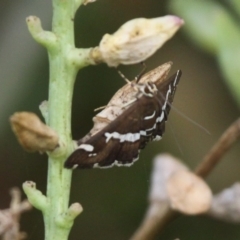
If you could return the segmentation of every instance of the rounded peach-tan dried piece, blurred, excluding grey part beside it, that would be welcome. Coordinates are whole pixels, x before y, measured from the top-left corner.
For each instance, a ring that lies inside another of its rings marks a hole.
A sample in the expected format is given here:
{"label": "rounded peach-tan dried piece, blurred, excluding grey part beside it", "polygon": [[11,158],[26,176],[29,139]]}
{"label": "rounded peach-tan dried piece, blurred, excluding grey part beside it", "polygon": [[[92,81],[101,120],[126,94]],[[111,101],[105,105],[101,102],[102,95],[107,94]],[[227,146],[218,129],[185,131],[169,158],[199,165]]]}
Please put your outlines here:
{"label": "rounded peach-tan dried piece, blurred, excluding grey part beside it", "polygon": [[208,211],[212,192],[208,185],[190,171],[177,171],[167,182],[170,205],[184,214],[200,214]]}

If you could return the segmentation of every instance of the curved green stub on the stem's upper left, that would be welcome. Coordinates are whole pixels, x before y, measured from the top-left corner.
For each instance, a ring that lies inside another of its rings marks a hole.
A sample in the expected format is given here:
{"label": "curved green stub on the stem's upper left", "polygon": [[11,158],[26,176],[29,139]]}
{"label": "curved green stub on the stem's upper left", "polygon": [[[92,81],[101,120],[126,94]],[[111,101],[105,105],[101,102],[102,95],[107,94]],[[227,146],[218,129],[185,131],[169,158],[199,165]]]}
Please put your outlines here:
{"label": "curved green stub on the stem's upper left", "polygon": [[42,29],[41,21],[38,17],[29,16],[26,19],[29,32],[36,42],[42,44],[47,49],[56,46],[57,38],[54,33],[44,31]]}

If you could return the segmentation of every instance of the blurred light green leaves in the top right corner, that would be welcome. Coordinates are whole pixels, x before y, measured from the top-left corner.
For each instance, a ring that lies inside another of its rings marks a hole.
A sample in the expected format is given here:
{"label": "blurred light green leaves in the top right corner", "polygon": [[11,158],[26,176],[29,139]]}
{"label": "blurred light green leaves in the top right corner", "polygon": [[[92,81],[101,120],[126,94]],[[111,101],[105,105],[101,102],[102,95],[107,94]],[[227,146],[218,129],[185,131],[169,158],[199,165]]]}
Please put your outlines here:
{"label": "blurred light green leaves in the top right corner", "polygon": [[240,106],[240,2],[228,4],[230,9],[212,0],[172,0],[170,9],[185,19],[185,32],[192,42],[216,58]]}

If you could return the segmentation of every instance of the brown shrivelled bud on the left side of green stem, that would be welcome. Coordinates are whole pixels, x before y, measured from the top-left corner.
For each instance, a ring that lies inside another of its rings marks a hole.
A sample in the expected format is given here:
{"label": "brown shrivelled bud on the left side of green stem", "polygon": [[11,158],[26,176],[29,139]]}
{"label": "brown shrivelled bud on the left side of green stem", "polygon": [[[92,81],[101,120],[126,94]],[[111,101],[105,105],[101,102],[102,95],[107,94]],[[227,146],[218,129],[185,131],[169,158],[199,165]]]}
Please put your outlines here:
{"label": "brown shrivelled bud on the left side of green stem", "polygon": [[30,112],[15,113],[10,118],[12,130],[22,147],[29,151],[52,151],[58,146],[58,135]]}

